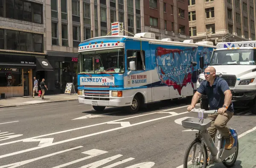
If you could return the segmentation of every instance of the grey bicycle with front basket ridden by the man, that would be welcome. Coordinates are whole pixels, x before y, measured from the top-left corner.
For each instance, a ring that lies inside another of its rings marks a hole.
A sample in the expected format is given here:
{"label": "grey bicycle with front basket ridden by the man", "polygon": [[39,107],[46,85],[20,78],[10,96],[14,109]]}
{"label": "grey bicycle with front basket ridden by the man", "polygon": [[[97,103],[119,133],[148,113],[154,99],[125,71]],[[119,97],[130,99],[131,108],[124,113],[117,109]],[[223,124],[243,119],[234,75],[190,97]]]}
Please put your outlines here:
{"label": "grey bicycle with front basket ridden by the man", "polygon": [[[229,130],[232,134],[232,136],[235,139],[234,145],[230,150],[225,150],[225,139],[222,136],[222,134],[219,132],[217,138],[218,138],[218,145],[215,145],[215,142],[213,142],[212,137],[209,135],[207,128],[211,126],[211,120],[206,119],[208,114],[215,114],[218,113],[217,110],[198,110],[198,109],[192,109],[191,112],[198,113],[198,118],[191,117],[188,119],[183,120],[182,126],[186,129],[191,130],[198,130],[198,133],[195,133],[195,139],[190,143],[190,145],[186,149],[186,153],[183,160],[184,168],[187,168],[188,165],[198,166],[200,168],[206,168],[207,165],[209,165],[209,161],[220,163],[222,162],[226,167],[232,167],[237,159],[238,155],[238,135],[236,133],[236,129],[230,128]],[[206,115],[207,114],[207,115]],[[201,116],[200,116],[201,115]],[[192,147],[195,145],[199,145],[200,151],[199,156],[195,158],[195,150],[196,148],[193,148],[192,153],[192,160],[188,162],[189,151],[192,149]],[[207,147],[209,148],[209,161],[207,163]],[[201,158],[203,155],[203,159]],[[230,162],[228,162],[230,160]]]}

